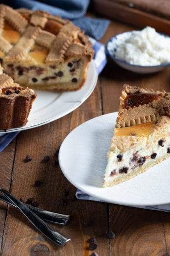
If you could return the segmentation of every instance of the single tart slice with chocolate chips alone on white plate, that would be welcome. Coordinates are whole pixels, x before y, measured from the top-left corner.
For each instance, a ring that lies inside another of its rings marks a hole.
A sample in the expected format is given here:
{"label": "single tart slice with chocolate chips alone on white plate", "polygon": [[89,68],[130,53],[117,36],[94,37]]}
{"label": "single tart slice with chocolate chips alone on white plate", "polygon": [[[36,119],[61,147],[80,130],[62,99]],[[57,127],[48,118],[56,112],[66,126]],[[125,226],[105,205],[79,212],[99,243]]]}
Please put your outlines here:
{"label": "single tart slice with chocolate chips alone on white plate", "polygon": [[129,180],[170,156],[170,93],[125,85],[103,187]]}

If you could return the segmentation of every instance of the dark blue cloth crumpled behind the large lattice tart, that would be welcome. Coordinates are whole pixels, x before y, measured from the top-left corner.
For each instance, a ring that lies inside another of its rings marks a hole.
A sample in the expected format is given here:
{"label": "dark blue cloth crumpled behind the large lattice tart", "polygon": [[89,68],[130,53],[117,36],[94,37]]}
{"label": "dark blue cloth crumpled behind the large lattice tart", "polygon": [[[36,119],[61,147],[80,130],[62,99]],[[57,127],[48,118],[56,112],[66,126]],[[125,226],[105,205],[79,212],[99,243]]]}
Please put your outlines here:
{"label": "dark blue cloth crumpled behind the large lattice tart", "polygon": [[76,26],[85,30],[85,34],[99,40],[105,34],[110,20],[84,17],[90,0],[2,0],[13,8],[25,7],[31,10],[44,10],[62,18],[72,20]]}

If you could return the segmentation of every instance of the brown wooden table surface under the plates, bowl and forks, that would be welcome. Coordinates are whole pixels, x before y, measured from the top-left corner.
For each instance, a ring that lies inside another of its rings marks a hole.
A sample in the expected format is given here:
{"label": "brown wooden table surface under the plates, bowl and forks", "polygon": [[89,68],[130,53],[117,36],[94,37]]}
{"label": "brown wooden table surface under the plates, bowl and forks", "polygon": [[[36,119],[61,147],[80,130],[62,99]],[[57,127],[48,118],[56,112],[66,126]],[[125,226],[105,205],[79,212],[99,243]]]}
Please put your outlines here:
{"label": "brown wooden table surface under the plates, bowl and forks", "polygon": [[[113,35],[131,29],[112,21],[101,42],[105,44]],[[170,255],[170,213],[74,200],[76,188],[64,177],[59,165],[52,164],[57,160],[55,152],[74,128],[93,117],[118,111],[123,84],[170,91],[170,68],[139,75],[108,61],[94,92],[78,109],[47,125],[20,132],[0,153],[0,186],[24,201],[34,197],[40,208],[71,215],[66,226],[51,224],[71,237],[65,246],[58,247],[17,209],[0,202],[2,256],[88,256],[94,252],[99,256]],[[32,158],[28,163],[24,163],[26,155]],[[47,155],[50,161],[41,163]],[[42,185],[34,187],[36,180],[41,180]],[[91,222],[88,227],[83,224],[86,220]],[[114,239],[106,236],[109,229],[115,233]],[[96,238],[96,250],[88,249],[87,239],[91,237]]]}

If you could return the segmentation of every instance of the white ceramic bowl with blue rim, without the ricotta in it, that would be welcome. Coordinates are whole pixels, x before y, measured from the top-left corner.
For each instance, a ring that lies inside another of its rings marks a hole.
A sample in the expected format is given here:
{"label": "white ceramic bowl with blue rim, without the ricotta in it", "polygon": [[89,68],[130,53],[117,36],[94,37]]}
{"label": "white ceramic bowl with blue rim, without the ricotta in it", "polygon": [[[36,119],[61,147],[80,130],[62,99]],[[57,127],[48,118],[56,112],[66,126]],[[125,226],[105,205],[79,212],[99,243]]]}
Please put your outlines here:
{"label": "white ceramic bowl with blue rim, without the ricotta in it", "polygon": [[[118,46],[118,44],[125,41],[126,38],[129,37],[130,33],[131,31],[128,31],[128,32],[123,32],[121,34],[115,35],[106,44],[106,53],[113,59],[113,61],[116,62],[116,64],[132,72],[143,73],[143,74],[159,72],[161,70],[164,70],[166,67],[170,66],[170,62],[161,64],[158,66],[139,66],[139,65],[133,65],[133,64],[127,63],[126,61],[122,61],[116,58],[114,55],[116,52],[116,47]],[[167,36],[167,35],[164,35],[164,36]]]}

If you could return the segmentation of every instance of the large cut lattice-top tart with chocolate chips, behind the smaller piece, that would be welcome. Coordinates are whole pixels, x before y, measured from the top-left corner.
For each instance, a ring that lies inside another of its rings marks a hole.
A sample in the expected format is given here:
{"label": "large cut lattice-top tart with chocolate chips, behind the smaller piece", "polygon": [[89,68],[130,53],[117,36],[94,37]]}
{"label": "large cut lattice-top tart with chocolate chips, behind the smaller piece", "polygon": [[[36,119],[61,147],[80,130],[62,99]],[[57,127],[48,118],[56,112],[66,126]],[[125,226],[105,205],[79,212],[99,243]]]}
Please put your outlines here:
{"label": "large cut lattice-top tart with chocolate chips, behind the smaller piece", "polygon": [[88,36],[59,16],[0,4],[0,58],[21,86],[78,90],[94,50]]}

